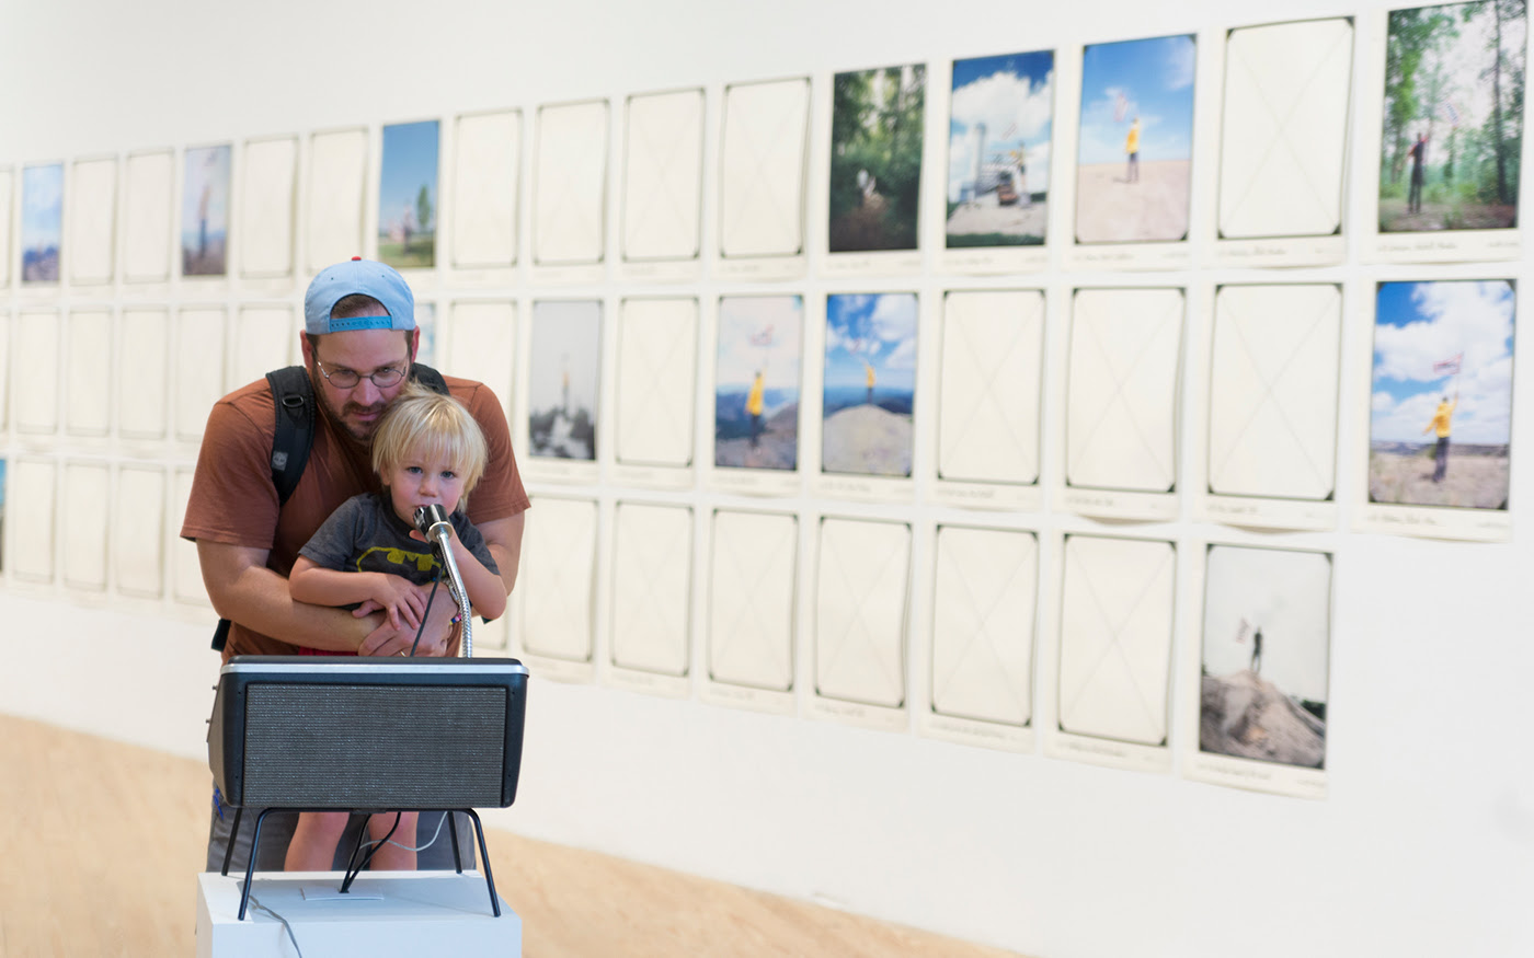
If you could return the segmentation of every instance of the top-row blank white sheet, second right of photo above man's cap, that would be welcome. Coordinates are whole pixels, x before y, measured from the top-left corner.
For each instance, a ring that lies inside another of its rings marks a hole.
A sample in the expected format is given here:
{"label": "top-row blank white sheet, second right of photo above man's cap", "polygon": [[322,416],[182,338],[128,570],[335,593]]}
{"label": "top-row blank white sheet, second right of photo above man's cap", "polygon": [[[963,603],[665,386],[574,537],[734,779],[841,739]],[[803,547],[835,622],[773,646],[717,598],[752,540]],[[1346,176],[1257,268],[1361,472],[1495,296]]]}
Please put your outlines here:
{"label": "top-row blank white sheet, second right of photo above man's cap", "polygon": [[607,101],[538,107],[532,258],[601,262],[607,210]]}

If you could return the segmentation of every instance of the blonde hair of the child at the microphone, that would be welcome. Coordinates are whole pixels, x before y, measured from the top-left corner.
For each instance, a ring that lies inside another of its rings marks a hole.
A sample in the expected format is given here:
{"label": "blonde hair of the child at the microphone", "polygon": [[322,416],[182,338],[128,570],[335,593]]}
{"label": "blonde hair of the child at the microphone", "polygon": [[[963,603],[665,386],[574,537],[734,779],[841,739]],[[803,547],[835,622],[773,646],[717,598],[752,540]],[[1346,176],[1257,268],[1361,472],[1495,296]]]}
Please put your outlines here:
{"label": "blonde hair of the child at the microphone", "polygon": [[411,380],[390,403],[373,434],[373,471],[388,477],[410,455],[453,461],[454,472],[463,477],[459,500],[459,507],[463,507],[485,475],[489,449],[463,403]]}

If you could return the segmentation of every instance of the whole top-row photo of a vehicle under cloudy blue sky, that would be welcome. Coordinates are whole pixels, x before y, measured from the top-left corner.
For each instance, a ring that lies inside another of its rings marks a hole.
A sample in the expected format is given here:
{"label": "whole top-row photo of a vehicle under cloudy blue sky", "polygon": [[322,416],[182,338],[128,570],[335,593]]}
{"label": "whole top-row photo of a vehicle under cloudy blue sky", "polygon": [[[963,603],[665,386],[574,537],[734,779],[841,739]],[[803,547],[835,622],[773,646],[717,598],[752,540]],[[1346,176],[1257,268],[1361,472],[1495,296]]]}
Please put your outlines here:
{"label": "whole top-row photo of a vehicle under cloudy blue sky", "polygon": [[1052,121],[1052,51],[954,61],[950,250],[1045,241]]}

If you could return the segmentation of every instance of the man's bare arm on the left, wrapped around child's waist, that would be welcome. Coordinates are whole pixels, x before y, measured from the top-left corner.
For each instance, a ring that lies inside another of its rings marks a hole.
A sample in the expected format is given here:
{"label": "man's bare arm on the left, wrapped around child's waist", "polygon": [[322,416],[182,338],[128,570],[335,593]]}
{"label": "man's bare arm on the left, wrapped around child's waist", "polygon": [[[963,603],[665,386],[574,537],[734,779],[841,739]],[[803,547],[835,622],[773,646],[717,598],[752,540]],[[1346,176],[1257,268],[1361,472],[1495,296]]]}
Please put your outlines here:
{"label": "man's bare arm on the left, wrapped around child's waist", "polygon": [[[295,645],[357,655],[399,655],[416,638],[414,630],[388,625],[379,612],[353,615],[344,609],[295,601],[287,579],[267,569],[265,549],[198,540],[196,553],[213,609],[247,628]],[[446,607],[451,602],[443,602]],[[443,655],[451,635],[449,615],[433,610],[417,655]]]}

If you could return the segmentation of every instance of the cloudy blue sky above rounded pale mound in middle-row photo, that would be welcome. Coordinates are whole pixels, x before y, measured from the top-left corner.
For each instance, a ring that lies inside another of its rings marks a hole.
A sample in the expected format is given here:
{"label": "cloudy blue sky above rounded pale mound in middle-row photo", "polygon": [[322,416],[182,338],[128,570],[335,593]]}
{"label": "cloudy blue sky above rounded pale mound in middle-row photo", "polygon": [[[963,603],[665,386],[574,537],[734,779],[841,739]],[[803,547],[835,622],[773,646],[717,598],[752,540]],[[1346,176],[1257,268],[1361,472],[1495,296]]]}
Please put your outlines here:
{"label": "cloudy blue sky above rounded pale mound in middle-row photo", "polygon": [[879,391],[916,389],[916,294],[825,297],[825,388],[864,386],[867,362]]}

